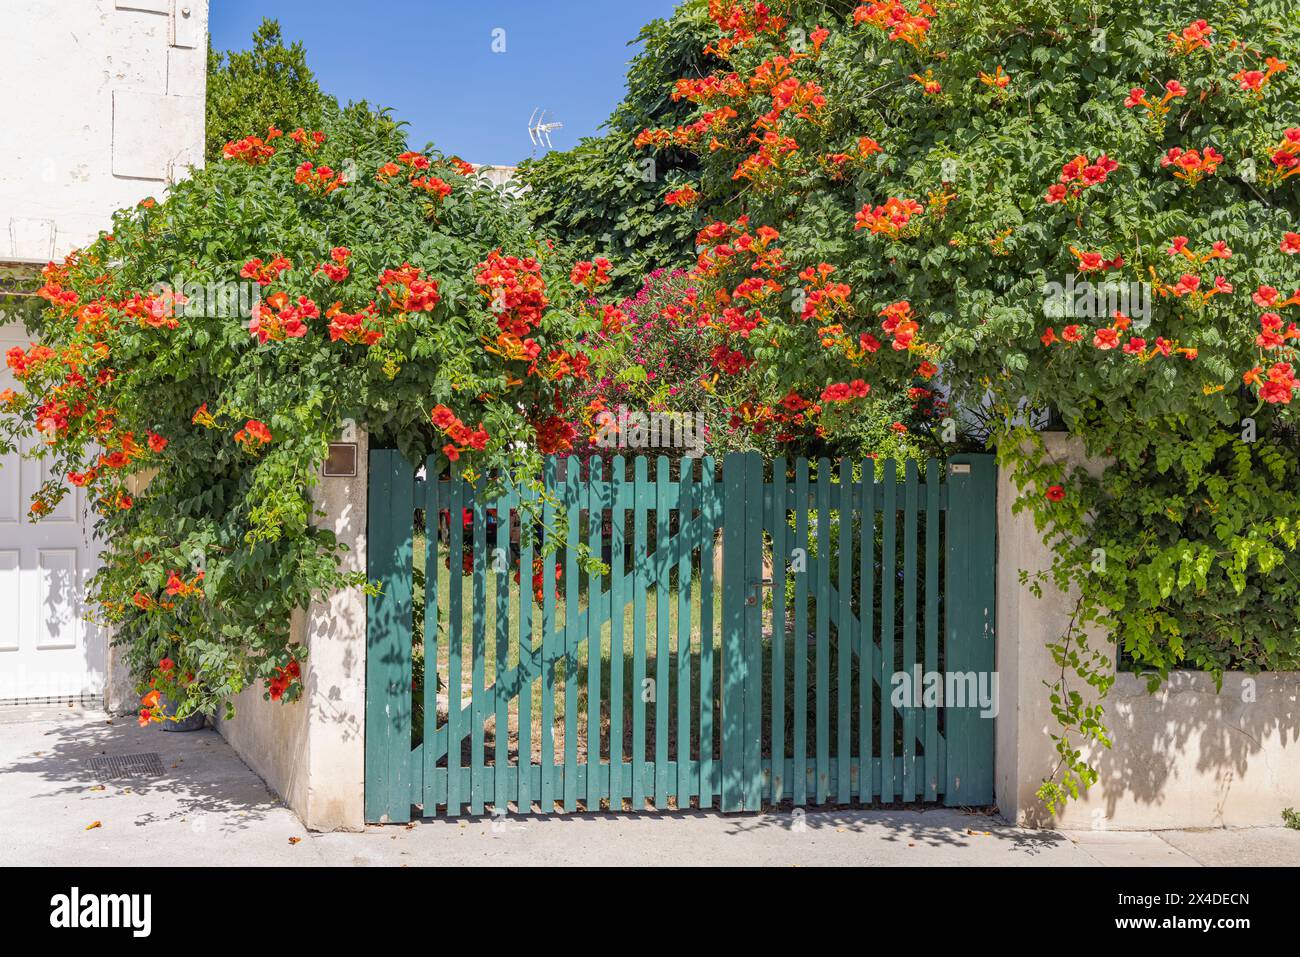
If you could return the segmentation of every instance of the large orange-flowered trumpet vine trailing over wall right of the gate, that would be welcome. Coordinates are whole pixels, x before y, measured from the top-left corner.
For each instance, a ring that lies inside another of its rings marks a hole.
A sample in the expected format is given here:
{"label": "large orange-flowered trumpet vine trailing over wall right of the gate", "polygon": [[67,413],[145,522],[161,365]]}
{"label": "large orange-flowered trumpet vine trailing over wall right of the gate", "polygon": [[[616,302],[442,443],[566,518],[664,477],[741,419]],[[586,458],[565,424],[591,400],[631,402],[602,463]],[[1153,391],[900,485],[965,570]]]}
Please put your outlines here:
{"label": "large orange-flowered trumpet vine trailing over wall right of the gate", "polygon": [[[1290,7],[708,12],[722,65],[676,81],[696,112],[636,144],[696,155],[662,199],[720,221],[697,237],[702,268],[750,277],[712,326],[718,387],[801,441],[910,377],[998,450],[1052,546],[1026,583],[1078,596],[1049,640],[1045,804],[1095,780],[1117,659],[1153,687],[1178,667],[1296,667]],[[745,259],[738,238],[764,230],[800,287]],[[754,309],[763,296],[785,308]],[[911,363],[883,361],[897,355]],[[1049,412],[1092,473],[1049,454],[1030,425]]]}

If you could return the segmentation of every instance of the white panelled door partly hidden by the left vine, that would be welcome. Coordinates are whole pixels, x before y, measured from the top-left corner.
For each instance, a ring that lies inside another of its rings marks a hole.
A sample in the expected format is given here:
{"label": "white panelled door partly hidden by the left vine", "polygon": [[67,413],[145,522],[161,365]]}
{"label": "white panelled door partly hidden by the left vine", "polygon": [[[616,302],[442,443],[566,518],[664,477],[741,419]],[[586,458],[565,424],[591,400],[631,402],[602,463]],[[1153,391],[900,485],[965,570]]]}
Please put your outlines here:
{"label": "white panelled door partly hidden by the left vine", "polygon": [[[0,355],[16,345],[30,345],[26,330],[0,325]],[[13,386],[12,371],[0,365],[0,391]],[[0,455],[0,702],[104,690],[104,636],[84,620],[84,589],[98,562],[86,495],[75,489],[52,514],[30,521],[31,495],[48,475],[43,460]]]}

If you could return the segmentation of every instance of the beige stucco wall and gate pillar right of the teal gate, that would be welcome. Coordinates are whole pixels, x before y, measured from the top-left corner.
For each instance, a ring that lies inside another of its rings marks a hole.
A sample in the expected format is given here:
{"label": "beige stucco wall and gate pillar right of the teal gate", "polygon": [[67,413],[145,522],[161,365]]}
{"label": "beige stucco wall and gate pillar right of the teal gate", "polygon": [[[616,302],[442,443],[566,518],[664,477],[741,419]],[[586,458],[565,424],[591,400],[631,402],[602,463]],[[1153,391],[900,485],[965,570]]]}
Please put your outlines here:
{"label": "beige stucco wall and gate pillar right of the teal gate", "polygon": [[[1045,436],[1054,456],[1096,472],[1082,446]],[[1028,512],[1013,515],[1017,490],[998,478],[998,674],[996,791],[1004,815],[1018,823],[1067,828],[1186,828],[1277,826],[1282,809],[1300,806],[1300,674],[1210,676],[1178,672],[1154,696],[1122,674],[1105,702],[1110,749],[1086,752],[1100,780],[1049,819],[1035,796],[1056,765],[1056,729],[1044,681],[1058,670],[1045,648],[1065,633],[1076,596],[1052,588],[1036,598],[1019,570],[1050,566]]]}

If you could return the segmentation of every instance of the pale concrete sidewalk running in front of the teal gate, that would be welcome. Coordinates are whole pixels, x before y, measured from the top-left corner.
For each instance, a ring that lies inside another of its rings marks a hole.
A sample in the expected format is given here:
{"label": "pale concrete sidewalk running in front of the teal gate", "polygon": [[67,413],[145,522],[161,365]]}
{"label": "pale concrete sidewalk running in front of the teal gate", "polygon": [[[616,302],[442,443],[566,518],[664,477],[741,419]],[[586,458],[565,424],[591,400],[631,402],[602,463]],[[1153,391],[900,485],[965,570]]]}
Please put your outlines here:
{"label": "pale concrete sidewalk running in front of the teal gate", "polygon": [[[100,781],[90,766],[150,752],[160,776]],[[510,815],[316,835],[213,731],[0,711],[0,866],[177,863],[1253,866],[1300,863],[1300,831],[1028,831],[935,809]]]}

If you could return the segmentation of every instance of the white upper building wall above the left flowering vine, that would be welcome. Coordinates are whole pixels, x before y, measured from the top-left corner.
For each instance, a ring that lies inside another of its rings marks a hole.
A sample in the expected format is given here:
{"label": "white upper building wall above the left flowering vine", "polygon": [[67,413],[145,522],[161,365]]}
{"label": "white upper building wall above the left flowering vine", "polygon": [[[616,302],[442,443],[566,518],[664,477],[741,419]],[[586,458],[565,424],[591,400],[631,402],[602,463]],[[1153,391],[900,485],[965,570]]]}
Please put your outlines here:
{"label": "white upper building wall above the left flowering vine", "polygon": [[0,0],[0,261],[46,263],[203,164],[208,0]]}

